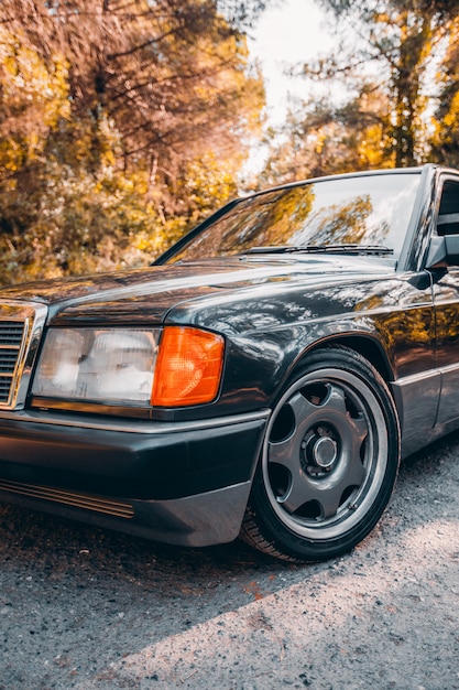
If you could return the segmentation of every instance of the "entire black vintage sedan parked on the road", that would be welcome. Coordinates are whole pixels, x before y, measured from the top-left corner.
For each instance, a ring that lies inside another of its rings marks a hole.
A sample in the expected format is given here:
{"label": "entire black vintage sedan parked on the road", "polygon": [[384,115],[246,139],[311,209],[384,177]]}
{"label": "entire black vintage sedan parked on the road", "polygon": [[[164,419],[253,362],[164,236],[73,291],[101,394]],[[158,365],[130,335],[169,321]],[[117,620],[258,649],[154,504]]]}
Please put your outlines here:
{"label": "entire black vintage sedan parked on the road", "polygon": [[231,202],[145,269],[0,297],[0,500],[293,561],[459,427],[459,172]]}

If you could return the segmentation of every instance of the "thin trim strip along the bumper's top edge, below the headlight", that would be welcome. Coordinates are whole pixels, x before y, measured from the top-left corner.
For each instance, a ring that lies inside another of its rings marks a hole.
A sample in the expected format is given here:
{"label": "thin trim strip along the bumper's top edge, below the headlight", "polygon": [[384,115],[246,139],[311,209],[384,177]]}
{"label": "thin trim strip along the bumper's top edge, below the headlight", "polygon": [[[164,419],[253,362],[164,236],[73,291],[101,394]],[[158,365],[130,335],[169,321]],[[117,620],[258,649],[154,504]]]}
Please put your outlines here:
{"label": "thin trim strip along the bumper's top edge, below the headlight", "polygon": [[212,419],[199,419],[193,421],[181,422],[160,422],[146,420],[107,420],[96,421],[84,416],[55,414],[50,412],[40,412],[34,410],[6,412],[0,410],[0,431],[2,420],[15,422],[33,422],[37,424],[55,424],[57,427],[76,427],[79,429],[99,429],[101,431],[120,431],[124,433],[144,433],[144,434],[162,434],[162,433],[179,433],[184,431],[200,431],[205,429],[216,429],[218,427],[228,427],[230,424],[242,424],[244,422],[255,422],[267,419],[271,410],[260,410],[258,412],[245,412],[243,414],[233,414],[231,417],[214,417]]}

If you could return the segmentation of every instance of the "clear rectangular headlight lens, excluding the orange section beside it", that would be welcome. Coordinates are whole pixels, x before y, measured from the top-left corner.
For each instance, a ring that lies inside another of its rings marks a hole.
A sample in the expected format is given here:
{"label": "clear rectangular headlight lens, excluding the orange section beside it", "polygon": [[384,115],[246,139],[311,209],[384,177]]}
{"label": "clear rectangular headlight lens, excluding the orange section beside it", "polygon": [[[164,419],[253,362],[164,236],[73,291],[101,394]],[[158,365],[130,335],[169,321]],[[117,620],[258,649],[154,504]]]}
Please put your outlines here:
{"label": "clear rectangular headlight lens, excluding the orange section beside it", "polygon": [[34,396],[150,405],[159,328],[51,328]]}

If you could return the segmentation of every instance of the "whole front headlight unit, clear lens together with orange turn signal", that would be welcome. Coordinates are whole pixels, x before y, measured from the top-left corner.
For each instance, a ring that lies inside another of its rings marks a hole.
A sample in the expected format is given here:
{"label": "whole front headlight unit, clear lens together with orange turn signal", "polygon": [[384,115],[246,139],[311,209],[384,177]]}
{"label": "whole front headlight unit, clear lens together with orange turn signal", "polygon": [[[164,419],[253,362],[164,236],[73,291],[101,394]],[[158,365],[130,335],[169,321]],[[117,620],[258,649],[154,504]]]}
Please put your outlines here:
{"label": "whole front headlight unit, clear lens together with orange turn signal", "polygon": [[36,398],[118,406],[211,402],[223,368],[221,335],[189,326],[50,328]]}

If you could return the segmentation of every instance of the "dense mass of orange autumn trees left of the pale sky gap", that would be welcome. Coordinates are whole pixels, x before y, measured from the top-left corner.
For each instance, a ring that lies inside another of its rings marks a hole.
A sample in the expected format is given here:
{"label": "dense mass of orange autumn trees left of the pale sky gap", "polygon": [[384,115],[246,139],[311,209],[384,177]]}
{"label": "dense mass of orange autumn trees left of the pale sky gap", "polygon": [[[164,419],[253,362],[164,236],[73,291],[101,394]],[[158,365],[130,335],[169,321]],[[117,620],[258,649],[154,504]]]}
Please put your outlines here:
{"label": "dense mass of orange autumn trees left of the pale sky gap", "polygon": [[245,4],[3,0],[3,282],[145,260],[208,212],[199,184],[234,193],[263,105]]}

